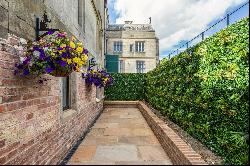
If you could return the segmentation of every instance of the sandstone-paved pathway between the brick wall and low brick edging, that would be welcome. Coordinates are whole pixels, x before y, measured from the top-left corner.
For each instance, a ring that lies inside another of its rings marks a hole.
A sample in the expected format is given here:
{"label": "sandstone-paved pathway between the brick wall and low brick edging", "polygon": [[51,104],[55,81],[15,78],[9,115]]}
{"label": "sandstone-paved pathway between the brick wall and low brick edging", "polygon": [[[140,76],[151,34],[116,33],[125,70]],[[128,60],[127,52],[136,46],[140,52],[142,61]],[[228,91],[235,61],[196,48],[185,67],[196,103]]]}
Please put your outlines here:
{"label": "sandstone-paved pathway between the brick wall and low brick edging", "polygon": [[69,165],[172,165],[136,108],[107,108]]}

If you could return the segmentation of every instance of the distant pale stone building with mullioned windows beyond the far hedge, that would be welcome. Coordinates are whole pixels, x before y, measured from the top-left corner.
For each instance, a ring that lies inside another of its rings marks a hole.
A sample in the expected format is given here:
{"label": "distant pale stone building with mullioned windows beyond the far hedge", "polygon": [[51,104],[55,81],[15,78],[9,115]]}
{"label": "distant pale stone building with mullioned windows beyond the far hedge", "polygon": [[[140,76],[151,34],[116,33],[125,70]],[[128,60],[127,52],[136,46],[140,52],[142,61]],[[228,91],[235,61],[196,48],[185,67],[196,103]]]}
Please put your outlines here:
{"label": "distant pale stone building with mullioned windows beyond the far hedge", "polygon": [[159,39],[151,24],[111,24],[107,29],[109,72],[147,73],[159,63]]}

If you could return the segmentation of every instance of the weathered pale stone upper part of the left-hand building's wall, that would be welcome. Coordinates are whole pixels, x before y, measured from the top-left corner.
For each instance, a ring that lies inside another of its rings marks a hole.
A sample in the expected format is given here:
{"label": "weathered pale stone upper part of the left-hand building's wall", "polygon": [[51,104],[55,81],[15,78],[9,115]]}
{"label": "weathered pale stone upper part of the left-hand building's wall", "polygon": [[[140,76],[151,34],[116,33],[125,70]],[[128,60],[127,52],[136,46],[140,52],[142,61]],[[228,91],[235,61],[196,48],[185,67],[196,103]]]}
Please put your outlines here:
{"label": "weathered pale stone upper part of the left-hand building's wall", "polygon": [[[41,19],[46,11],[50,28],[63,29],[76,36],[103,67],[104,0],[82,1],[85,2],[84,27],[78,23],[78,0],[1,0],[0,38],[7,38],[9,29],[11,34],[34,40],[36,17]],[[100,20],[96,12],[100,13]]]}

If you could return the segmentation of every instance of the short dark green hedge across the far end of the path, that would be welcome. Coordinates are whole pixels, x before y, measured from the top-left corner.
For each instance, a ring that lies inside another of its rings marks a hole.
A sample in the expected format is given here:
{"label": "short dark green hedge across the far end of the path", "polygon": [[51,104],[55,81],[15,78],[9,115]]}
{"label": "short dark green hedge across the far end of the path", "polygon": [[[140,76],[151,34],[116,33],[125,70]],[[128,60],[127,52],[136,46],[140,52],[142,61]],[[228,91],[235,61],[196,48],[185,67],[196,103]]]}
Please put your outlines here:
{"label": "short dark green hedge across the far end of the path", "polygon": [[113,73],[114,85],[105,89],[105,100],[133,101],[145,99],[145,74]]}

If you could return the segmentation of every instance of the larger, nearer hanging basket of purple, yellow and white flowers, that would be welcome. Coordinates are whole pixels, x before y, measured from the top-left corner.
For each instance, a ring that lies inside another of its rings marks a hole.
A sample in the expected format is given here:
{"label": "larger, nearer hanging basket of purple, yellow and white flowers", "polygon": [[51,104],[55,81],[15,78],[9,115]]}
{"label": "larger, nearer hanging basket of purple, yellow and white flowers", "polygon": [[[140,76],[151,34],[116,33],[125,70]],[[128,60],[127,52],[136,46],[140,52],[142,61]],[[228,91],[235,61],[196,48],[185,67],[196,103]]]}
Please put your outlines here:
{"label": "larger, nearer hanging basket of purple, yellow and white flowers", "polygon": [[15,74],[67,77],[87,64],[87,54],[88,50],[75,37],[69,39],[66,32],[51,31],[37,42],[28,42],[24,57],[15,65]]}

